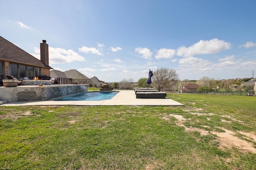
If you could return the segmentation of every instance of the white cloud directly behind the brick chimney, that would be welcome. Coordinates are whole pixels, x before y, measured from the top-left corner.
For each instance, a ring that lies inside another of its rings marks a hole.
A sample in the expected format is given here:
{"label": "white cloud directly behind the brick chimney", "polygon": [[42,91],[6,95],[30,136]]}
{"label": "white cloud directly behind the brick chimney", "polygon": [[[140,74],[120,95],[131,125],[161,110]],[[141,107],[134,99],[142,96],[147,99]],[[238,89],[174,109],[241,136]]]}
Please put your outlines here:
{"label": "white cloud directly behind the brick chimney", "polygon": [[[62,48],[49,47],[49,65],[57,63],[71,63],[72,61],[86,61],[84,57],[80,56],[73,50],[66,50]],[[31,54],[40,60],[40,49],[34,47],[34,53]]]}

